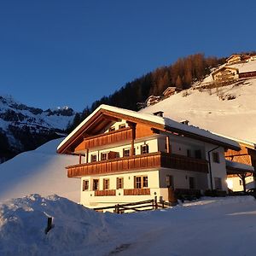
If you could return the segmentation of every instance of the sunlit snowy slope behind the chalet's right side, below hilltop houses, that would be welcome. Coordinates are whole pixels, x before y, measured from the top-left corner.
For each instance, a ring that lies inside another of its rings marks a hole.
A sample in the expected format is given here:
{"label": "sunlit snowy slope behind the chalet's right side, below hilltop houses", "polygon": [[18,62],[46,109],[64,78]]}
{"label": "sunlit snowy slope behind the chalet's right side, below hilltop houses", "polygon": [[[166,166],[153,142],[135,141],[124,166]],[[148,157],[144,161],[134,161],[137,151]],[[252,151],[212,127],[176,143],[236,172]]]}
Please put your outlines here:
{"label": "sunlit snowy slope behind the chalet's right side, below hilltop houses", "polygon": [[142,113],[157,111],[177,121],[187,119],[189,125],[256,143],[256,79],[221,87],[218,91],[183,90],[141,110]]}

